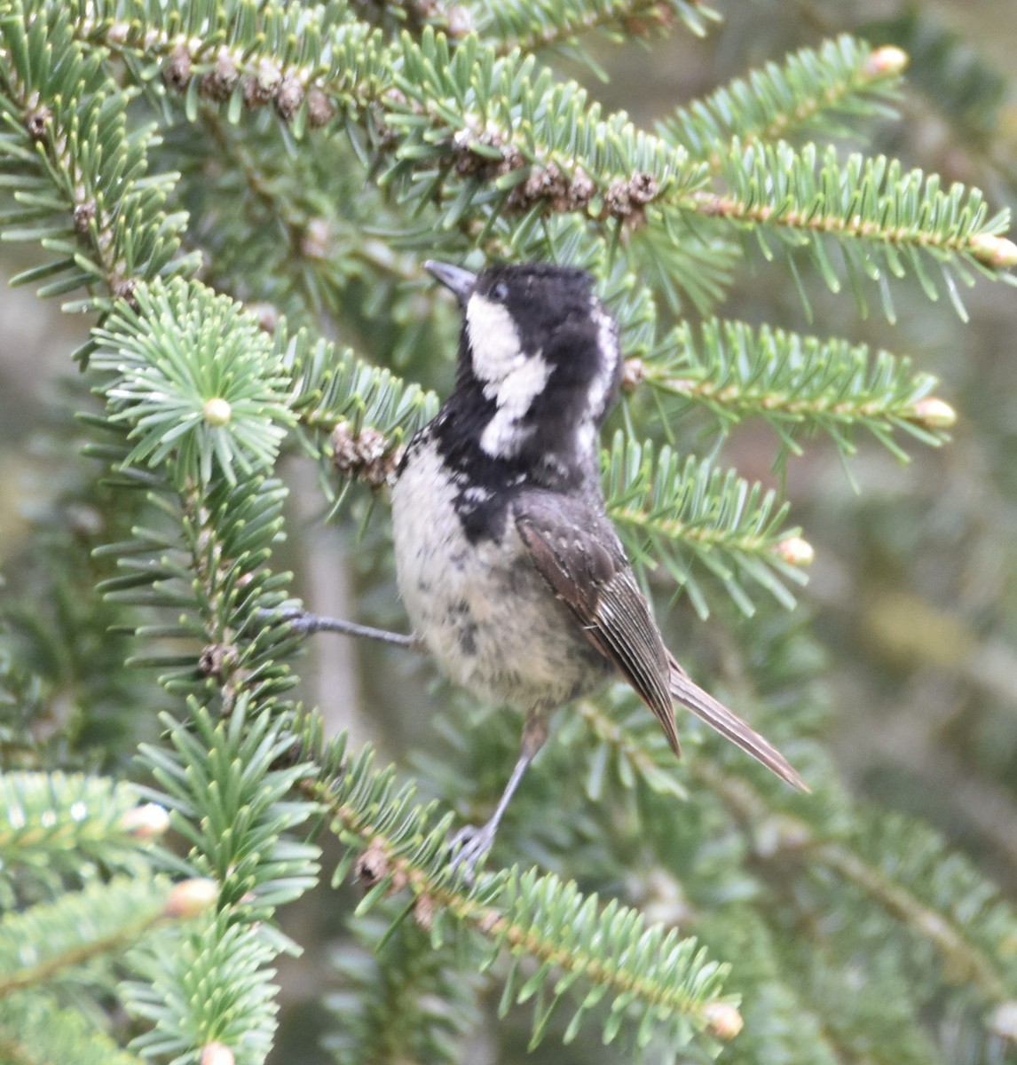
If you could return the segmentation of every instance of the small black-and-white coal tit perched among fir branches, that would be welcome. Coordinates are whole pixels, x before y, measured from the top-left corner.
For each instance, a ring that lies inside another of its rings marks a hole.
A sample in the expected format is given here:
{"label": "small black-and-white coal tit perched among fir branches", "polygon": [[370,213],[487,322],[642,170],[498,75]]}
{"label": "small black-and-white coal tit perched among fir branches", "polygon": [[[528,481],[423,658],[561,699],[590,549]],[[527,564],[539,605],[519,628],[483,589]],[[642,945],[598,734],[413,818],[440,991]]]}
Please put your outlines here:
{"label": "small black-and-white coal tit perched among fir branches", "polygon": [[663,644],[604,505],[600,429],[619,397],[618,327],[584,271],[474,275],[428,262],[459,299],[456,383],[412,439],[392,492],[399,590],[416,637],[478,698],[525,715],[491,819],[454,861],[490,849],[555,707],[623,677],[679,754],[677,700],[778,776],[801,776],[689,679]]}

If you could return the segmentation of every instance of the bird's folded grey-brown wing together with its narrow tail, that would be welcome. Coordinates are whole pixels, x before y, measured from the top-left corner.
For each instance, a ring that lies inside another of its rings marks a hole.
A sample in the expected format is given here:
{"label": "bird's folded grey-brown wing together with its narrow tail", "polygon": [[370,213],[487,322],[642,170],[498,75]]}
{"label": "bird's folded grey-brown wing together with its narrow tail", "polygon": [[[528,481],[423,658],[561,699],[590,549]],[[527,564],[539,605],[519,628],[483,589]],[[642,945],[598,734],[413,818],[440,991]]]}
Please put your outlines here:
{"label": "bird's folded grey-brown wing together with its narrow tail", "polygon": [[513,514],[534,566],[590,643],[653,710],[675,754],[680,748],[672,699],[782,780],[808,790],[780,751],[694,684],[671,656],[614,528],[598,508],[534,491],[516,499]]}

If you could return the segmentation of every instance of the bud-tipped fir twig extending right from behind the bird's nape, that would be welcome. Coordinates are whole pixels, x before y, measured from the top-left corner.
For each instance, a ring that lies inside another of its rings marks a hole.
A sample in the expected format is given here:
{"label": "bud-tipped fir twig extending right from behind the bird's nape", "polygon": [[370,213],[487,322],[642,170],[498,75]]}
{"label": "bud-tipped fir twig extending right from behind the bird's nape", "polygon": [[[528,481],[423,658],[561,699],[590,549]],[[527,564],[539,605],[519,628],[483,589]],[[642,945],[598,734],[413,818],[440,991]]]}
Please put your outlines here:
{"label": "bud-tipped fir twig extending right from behind the bird's nape", "polygon": [[705,406],[724,424],[762,417],[795,455],[802,454],[802,431],[816,429],[852,455],[852,435],[860,427],[905,460],[895,430],[936,446],[954,421],[952,409],[931,395],[935,377],[916,373],[911,359],[870,353],[866,344],[713,318],[698,335],[678,326],[658,351],[659,358],[629,361],[633,386]]}

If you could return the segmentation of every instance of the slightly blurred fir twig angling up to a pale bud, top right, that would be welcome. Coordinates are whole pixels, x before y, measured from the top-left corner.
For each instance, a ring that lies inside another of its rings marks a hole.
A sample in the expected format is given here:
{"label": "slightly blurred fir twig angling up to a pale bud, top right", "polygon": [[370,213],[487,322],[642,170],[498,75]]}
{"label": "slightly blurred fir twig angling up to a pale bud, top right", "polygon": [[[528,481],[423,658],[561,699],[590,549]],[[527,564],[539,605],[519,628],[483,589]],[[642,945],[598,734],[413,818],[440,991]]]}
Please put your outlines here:
{"label": "slightly blurred fir twig angling up to a pale bud, top right", "polygon": [[736,137],[750,145],[820,130],[835,136],[843,132],[838,116],[893,114],[887,101],[906,62],[899,49],[873,50],[867,42],[841,34],[679,108],[658,131],[715,168],[721,166],[722,147]]}

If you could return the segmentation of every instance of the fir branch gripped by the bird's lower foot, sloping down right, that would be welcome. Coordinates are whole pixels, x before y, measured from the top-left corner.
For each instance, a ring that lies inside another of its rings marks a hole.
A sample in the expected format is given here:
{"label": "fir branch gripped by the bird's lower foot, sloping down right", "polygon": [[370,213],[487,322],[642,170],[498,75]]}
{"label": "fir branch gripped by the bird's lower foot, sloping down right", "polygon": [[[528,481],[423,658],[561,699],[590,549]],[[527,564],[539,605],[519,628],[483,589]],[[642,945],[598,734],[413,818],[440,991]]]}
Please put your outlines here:
{"label": "fir branch gripped by the bird's lower foot, sloping down right", "polygon": [[[575,1037],[605,995],[613,997],[604,1020],[608,1042],[626,1017],[640,1035],[657,1029],[674,1046],[693,1032],[716,1030],[712,1007],[725,1005],[720,997],[724,967],[709,962],[694,940],[646,925],[636,911],[614,901],[601,908],[596,896],[583,896],[574,884],[551,874],[512,870],[468,888],[448,866],[449,818],[433,824],[434,805],[415,805],[412,785],[396,790],[393,769],[375,771],[370,748],[347,760],[344,739],[323,748],[313,738],[315,726],[311,730],[304,750],[322,766],[322,773],[317,783],[305,782],[304,788],[327,807],[340,838],[361,852],[357,871],[370,890],[360,911],[405,886],[414,897],[417,919],[426,921],[439,941],[452,919],[492,941],[496,950],[490,963],[498,950],[508,950],[516,964],[503,1007],[537,995],[534,1043],[552,1010],[577,982],[588,989],[567,1041]],[[347,859],[344,867],[348,865]],[[527,980],[518,964],[524,956],[539,963]]]}

